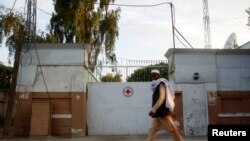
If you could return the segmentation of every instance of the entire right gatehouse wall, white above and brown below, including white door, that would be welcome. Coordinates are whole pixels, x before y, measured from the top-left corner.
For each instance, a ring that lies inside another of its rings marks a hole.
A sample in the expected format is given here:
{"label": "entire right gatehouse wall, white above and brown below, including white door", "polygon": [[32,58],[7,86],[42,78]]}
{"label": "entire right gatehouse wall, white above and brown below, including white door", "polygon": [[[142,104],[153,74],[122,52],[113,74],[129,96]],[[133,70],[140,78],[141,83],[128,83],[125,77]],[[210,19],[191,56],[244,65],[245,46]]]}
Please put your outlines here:
{"label": "entire right gatehouse wall, white above and brown below, including white door", "polygon": [[185,135],[205,135],[209,123],[249,123],[249,49],[170,49],[166,57],[183,93]]}

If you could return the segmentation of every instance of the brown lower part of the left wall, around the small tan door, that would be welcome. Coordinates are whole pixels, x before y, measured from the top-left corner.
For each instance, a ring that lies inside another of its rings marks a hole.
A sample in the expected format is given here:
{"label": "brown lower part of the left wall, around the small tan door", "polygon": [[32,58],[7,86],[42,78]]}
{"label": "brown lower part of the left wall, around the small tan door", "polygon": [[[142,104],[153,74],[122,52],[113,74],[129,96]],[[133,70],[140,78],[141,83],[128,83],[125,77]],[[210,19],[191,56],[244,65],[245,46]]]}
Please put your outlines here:
{"label": "brown lower part of the left wall, around the small tan door", "polygon": [[[33,92],[18,94],[15,113],[15,135],[29,136],[32,103],[51,103],[51,135],[86,136],[86,94],[83,92]],[[43,116],[41,115],[41,119]]]}

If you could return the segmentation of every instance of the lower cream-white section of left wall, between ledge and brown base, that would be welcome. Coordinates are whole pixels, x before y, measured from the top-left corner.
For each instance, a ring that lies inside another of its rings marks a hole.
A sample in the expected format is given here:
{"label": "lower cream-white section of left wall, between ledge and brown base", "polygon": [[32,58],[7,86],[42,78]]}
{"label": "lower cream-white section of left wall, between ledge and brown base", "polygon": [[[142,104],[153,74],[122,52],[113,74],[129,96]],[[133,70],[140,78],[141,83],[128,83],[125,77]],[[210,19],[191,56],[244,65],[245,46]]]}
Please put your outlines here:
{"label": "lower cream-white section of left wall, between ledge and brown base", "polygon": [[20,66],[18,76],[17,90],[26,92],[86,92],[87,82],[96,82],[84,66]]}

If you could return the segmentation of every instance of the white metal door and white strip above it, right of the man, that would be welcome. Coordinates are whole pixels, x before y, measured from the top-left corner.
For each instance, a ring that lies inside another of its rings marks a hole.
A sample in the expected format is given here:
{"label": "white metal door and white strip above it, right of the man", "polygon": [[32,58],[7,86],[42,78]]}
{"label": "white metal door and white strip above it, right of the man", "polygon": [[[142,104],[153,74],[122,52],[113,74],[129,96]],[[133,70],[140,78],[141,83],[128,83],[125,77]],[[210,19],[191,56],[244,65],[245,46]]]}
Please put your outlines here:
{"label": "white metal door and white strip above it, right of the man", "polygon": [[[186,136],[204,136],[208,125],[208,93],[216,93],[216,83],[175,84],[176,92],[183,95],[182,120],[183,134]],[[211,99],[210,99],[211,100]]]}

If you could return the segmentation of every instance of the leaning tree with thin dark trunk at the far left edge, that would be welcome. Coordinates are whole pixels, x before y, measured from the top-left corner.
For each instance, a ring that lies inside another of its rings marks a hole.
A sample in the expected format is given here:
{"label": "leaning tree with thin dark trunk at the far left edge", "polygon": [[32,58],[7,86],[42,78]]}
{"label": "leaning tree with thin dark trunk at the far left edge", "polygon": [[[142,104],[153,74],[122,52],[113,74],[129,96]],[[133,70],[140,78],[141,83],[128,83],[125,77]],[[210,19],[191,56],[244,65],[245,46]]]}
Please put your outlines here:
{"label": "leaning tree with thin dark trunk at the far left edge", "polygon": [[[15,60],[13,65],[13,75],[9,91],[8,104],[6,109],[6,116],[4,122],[4,136],[9,135],[10,126],[12,122],[13,106],[16,95],[16,84],[17,84],[17,72],[19,67],[19,58],[21,54],[21,45],[23,42],[24,26],[22,22],[22,17],[16,13],[11,12],[8,14],[3,13],[4,8],[1,9],[1,19],[0,19],[0,34],[1,37],[4,35],[7,38],[6,46],[9,48],[9,52],[15,51]],[[2,43],[1,38],[1,43]],[[11,55],[11,54],[10,54]]]}

